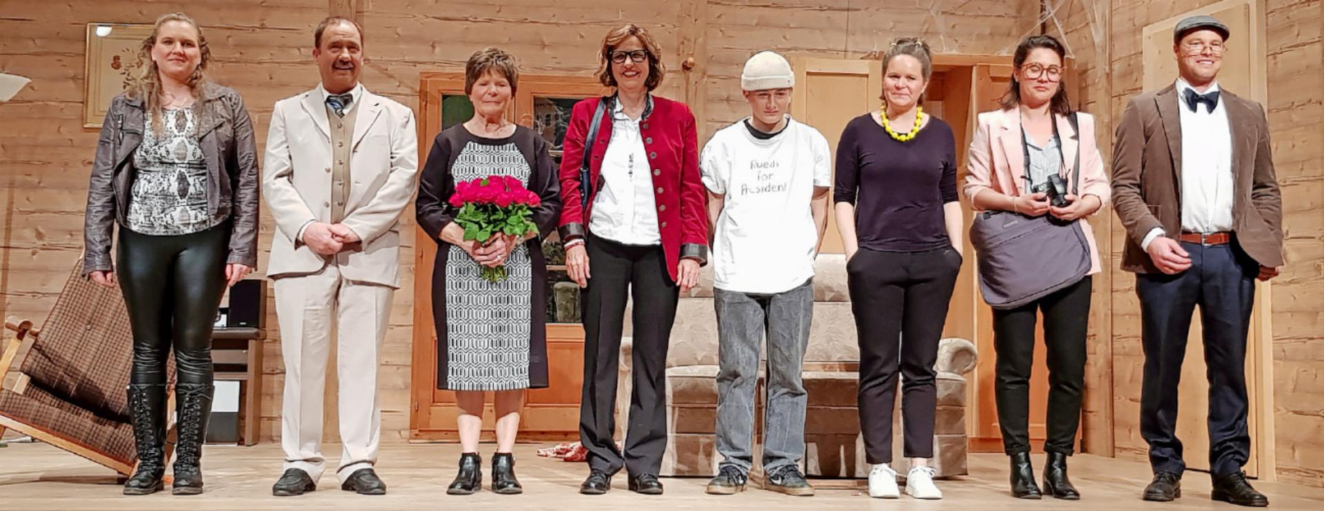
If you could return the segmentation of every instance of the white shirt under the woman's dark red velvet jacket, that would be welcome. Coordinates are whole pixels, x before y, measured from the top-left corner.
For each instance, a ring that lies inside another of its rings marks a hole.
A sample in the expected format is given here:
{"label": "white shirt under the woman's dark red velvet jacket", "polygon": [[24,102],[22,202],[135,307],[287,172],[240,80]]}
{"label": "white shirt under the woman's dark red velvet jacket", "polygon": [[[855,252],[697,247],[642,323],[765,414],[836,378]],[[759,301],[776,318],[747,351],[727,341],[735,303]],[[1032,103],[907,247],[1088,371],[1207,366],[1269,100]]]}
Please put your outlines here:
{"label": "white shirt under the woman's dark red velvet jacket", "polygon": [[639,119],[625,115],[625,107],[617,101],[612,110],[612,140],[600,169],[605,185],[593,199],[589,232],[625,245],[662,244],[649,168]]}

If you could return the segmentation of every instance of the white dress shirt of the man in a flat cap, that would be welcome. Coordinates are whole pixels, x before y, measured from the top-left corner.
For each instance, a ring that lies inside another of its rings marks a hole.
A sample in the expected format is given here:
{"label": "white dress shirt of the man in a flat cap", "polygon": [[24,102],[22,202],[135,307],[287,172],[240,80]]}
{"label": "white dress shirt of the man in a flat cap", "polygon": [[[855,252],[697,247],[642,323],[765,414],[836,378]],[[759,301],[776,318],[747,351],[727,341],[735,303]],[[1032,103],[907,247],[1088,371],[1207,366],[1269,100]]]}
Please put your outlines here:
{"label": "white dress shirt of the man in a flat cap", "polygon": [[[1186,106],[1190,83],[1177,78],[1177,110],[1181,113],[1181,229],[1193,233],[1217,233],[1233,229],[1233,134],[1227,123],[1227,103],[1218,99],[1213,111],[1197,103]],[[1218,89],[1215,82],[1204,94]],[[1166,233],[1155,228],[1140,244]]]}

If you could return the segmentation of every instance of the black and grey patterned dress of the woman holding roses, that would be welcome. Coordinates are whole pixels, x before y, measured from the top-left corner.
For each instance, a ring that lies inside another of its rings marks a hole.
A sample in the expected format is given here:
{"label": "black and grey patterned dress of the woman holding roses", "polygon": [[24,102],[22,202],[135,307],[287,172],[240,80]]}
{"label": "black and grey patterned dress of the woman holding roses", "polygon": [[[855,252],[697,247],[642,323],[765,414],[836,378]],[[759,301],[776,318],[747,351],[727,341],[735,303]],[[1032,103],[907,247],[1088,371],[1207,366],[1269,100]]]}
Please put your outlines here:
{"label": "black and grey patterned dress of the woman holding roses", "polygon": [[[539,150],[542,152],[539,152]],[[548,232],[559,212],[559,187],[545,142],[519,127],[504,139],[474,136],[463,126],[442,131],[420,183],[418,222],[434,240],[453,220],[446,204],[454,183],[514,176],[544,204],[534,221]],[[438,244],[433,269],[437,388],[514,391],[547,387],[545,289],[542,245],[522,244],[506,259],[508,278],[487,282],[463,249]]]}

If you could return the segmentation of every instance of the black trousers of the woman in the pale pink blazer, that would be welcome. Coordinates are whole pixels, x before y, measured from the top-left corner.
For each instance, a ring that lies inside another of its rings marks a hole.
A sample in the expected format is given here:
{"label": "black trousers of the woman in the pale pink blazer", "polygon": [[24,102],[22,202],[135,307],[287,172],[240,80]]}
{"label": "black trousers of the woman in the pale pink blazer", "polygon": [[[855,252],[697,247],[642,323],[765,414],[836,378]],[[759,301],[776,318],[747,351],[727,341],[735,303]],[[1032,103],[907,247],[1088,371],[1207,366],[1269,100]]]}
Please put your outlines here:
{"label": "black trousers of the woman in the pale pink blazer", "polygon": [[1075,451],[1092,289],[1087,275],[1034,303],[993,310],[993,349],[997,352],[993,396],[1006,454],[1030,451],[1030,368],[1034,365],[1038,311],[1043,311],[1043,346],[1049,361],[1049,434],[1043,450],[1066,455]]}

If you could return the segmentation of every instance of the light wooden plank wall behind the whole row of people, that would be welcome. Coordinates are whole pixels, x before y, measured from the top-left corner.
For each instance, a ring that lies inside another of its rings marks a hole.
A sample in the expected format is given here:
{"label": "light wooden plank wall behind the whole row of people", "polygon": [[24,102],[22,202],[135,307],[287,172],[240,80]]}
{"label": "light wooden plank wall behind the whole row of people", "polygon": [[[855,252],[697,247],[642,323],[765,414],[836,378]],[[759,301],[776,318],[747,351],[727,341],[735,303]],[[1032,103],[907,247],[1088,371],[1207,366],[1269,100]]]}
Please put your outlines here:
{"label": "light wooden plank wall behind the whole row of people", "polygon": [[[1140,28],[1209,0],[1172,4],[1141,0],[1061,0],[1066,40],[1082,85],[1080,105],[1099,123],[1099,143],[1111,148],[1112,119],[1140,87]],[[1279,475],[1324,485],[1317,463],[1324,377],[1319,298],[1305,290],[1324,283],[1321,169],[1324,65],[1320,0],[1268,0],[1270,123],[1284,184],[1290,265],[1274,287],[1275,397]],[[33,78],[19,101],[0,106],[0,316],[45,316],[69,265],[82,249],[82,208],[95,132],[82,128],[85,24],[151,23],[187,8],[207,29],[216,57],[213,75],[238,89],[254,115],[260,148],[271,105],[316,83],[311,29],[328,12],[352,16],[367,32],[364,83],[417,107],[418,71],[459,70],[471,52],[502,46],[528,74],[591,74],[602,34],[625,21],[647,26],[666,54],[662,95],[688,99],[702,119],[700,139],[745,114],[739,93],[744,60],[761,49],[788,56],[859,58],[884,50],[892,38],[920,36],[935,52],[1006,54],[1017,40],[1038,32],[1039,1],[925,0],[890,4],[861,0],[686,0],[677,7],[622,0],[604,9],[589,0],[556,7],[534,0],[450,3],[424,0],[234,0],[226,3],[139,3],[127,0],[28,3],[0,0],[0,70]],[[1055,25],[1047,25],[1057,33]],[[695,66],[682,70],[683,58]],[[412,212],[405,213],[413,224]],[[1106,258],[1120,257],[1121,232],[1111,214],[1092,218]],[[262,266],[273,224],[262,221]],[[405,229],[412,233],[413,229]],[[404,290],[396,294],[383,352],[383,429],[408,432],[412,336],[413,240],[404,237]],[[1115,263],[1107,263],[1115,267]],[[1139,307],[1133,278],[1113,270],[1095,282],[1091,361],[1086,396],[1084,450],[1140,457]],[[274,306],[269,306],[274,310]],[[274,312],[266,343],[262,412],[265,437],[279,436],[283,365]],[[328,393],[334,393],[334,383]],[[1112,392],[1112,389],[1116,392]],[[334,426],[328,425],[334,432]],[[331,433],[328,432],[328,436]]]}

